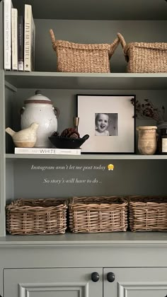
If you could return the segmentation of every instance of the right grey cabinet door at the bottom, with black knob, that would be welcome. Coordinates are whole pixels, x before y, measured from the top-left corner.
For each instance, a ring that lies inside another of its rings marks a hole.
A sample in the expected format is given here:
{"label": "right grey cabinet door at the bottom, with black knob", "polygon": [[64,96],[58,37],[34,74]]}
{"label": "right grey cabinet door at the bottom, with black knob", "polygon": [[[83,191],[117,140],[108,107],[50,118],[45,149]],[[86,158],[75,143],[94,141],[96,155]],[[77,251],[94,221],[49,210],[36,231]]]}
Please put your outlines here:
{"label": "right grey cabinet door at the bottom, with black knob", "polygon": [[[107,280],[108,272],[115,281]],[[165,297],[167,268],[105,268],[103,270],[105,297]]]}

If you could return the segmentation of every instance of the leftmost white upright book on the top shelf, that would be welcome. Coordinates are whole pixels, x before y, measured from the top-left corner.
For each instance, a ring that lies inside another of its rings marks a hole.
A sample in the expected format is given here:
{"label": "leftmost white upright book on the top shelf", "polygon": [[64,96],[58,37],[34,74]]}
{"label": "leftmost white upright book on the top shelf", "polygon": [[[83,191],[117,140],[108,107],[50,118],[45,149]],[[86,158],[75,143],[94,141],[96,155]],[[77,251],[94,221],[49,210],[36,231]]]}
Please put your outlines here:
{"label": "leftmost white upright book on the top shelf", "polygon": [[4,69],[11,70],[11,0],[4,0]]}

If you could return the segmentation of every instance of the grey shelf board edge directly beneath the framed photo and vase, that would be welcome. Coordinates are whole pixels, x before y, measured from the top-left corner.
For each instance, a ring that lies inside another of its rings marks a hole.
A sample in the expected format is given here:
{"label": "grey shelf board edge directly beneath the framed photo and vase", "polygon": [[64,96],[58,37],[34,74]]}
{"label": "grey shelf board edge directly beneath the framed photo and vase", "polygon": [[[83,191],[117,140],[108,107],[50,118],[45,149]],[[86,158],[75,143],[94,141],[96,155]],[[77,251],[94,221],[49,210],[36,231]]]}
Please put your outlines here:
{"label": "grey shelf board edge directly beneath the framed photo and vase", "polygon": [[167,155],[135,155],[135,154],[103,154],[81,153],[81,155],[42,155],[42,154],[12,154],[6,153],[6,159],[75,159],[75,160],[167,160]]}

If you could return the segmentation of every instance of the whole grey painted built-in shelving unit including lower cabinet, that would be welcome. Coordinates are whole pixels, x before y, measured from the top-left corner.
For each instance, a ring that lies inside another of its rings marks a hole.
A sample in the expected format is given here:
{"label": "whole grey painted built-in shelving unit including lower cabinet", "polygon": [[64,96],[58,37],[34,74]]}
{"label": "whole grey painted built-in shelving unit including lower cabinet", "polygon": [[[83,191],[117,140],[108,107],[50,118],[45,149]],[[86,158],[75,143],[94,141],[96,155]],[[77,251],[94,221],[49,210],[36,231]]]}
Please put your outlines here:
{"label": "whole grey painted built-in shelving unit including lower cabinet", "polygon": [[[76,94],[134,94],[138,100],[150,98],[167,110],[167,74],[127,74],[121,46],[110,59],[110,74],[57,73],[56,54],[49,35],[52,28],[57,39],[100,43],[113,42],[120,32],[127,42],[167,42],[167,3],[164,0],[13,0],[19,13],[23,13],[25,3],[33,6],[36,27],[35,71],[30,73],[3,69],[3,1],[0,2],[0,295],[166,296],[166,233],[8,235],[5,214],[6,204],[18,197],[166,195],[166,156],[15,155],[5,128],[20,129],[19,110],[38,88],[59,107],[60,132],[73,125]],[[155,122],[137,120],[137,125],[142,124]],[[46,186],[42,180],[52,178],[53,173],[31,170],[32,165],[107,166],[108,163],[115,165],[110,175],[91,170],[55,173],[57,178],[84,179],[96,175],[101,180],[98,185],[86,187]],[[97,283],[91,281],[92,272],[100,275]],[[115,273],[113,283],[107,281],[108,272]]]}

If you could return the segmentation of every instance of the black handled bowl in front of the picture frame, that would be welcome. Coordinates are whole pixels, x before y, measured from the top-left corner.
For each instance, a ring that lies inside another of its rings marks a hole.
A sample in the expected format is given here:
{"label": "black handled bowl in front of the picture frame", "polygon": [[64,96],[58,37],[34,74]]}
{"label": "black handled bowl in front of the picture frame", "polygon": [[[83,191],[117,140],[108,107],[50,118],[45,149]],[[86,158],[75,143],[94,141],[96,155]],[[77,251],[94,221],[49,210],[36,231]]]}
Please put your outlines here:
{"label": "black handled bowl in front of the picture frame", "polygon": [[48,138],[56,148],[80,148],[88,137],[89,135],[86,134],[82,138],[67,138],[62,136],[50,136]]}

